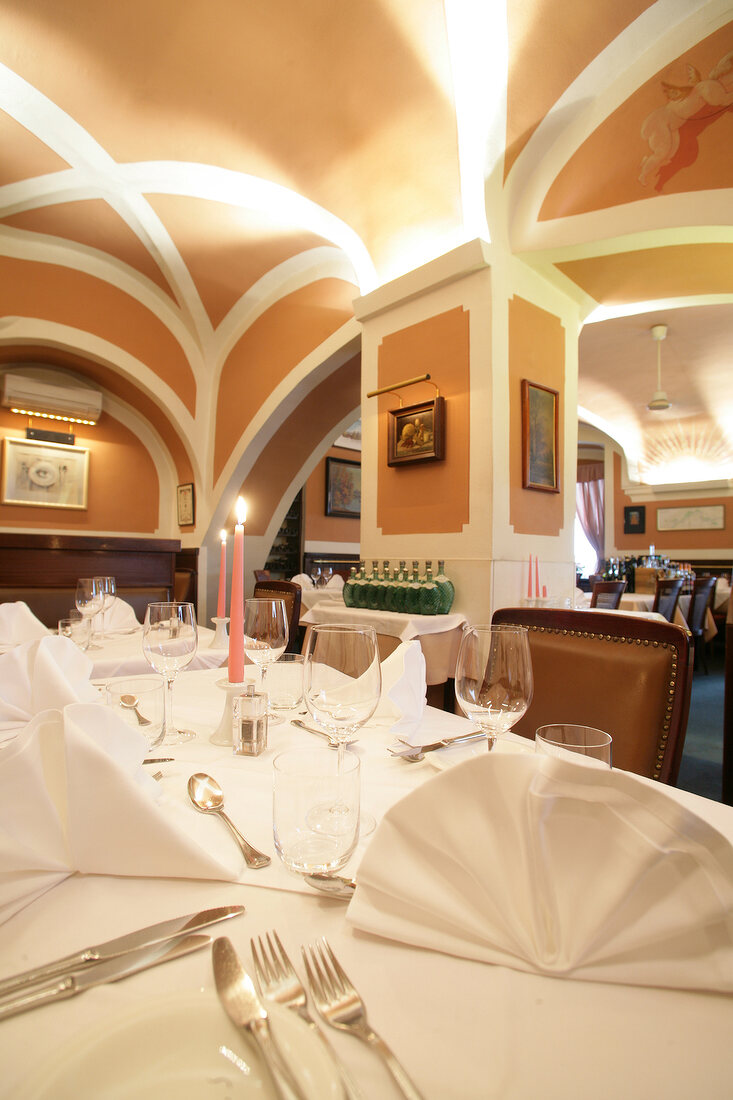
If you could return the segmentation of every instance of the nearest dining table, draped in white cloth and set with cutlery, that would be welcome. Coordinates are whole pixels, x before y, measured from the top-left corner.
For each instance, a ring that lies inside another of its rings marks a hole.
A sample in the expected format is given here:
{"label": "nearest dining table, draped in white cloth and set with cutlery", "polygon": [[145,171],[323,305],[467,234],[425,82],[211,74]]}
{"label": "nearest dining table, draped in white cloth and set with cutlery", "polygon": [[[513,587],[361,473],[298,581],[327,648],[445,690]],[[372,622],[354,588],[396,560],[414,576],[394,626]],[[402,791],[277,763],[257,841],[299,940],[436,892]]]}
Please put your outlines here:
{"label": "nearest dining table, draped in white cloth and set with cutlery", "polygon": [[[287,871],[273,844],[274,757],[293,747],[332,750],[288,718],[270,726],[267,747],[258,757],[234,756],[231,748],[211,744],[225,705],[221,678],[222,671],[216,669],[179,673],[174,718],[185,717],[197,736],[166,747],[161,755],[172,759],[155,766],[162,776],[157,784],[149,785],[155,787],[169,821],[227,864],[230,877],[217,881],[134,872],[72,873],[0,924],[0,977],[155,921],[241,904],[243,915],[211,934],[227,936],[251,974],[251,939],[275,930],[300,978],[305,976],[302,946],[325,936],[359,990],[370,1023],[425,1100],[730,1096],[730,996],[546,977],[355,930],[347,903]],[[420,735],[431,739],[469,728],[467,719],[428,707]],[[384,814],[411,792],[436,781],[456,762],[486,752],[485,743],[479,740],[409,763],[390,755],[392,744],[391,721],[372,721],[349,750],[360,758],[362,803],[376,818],[378,831]],[[532,741],[508,734],[500,738],[492,759],[533,751]],[[221,784],[230,816],[256,848],[271,855],[269,867],[248,869],[221,822],[193,809],[186,784],[197,771],[208,772]],[[665,793],[733,842],[733,809],[672,788],[665,788]],[[360,839],[342,873],[355,875],[359,881],[360,862],[376,835]],[[151,836],[150,845],[155,842]],[[469,849],[474,844],[470,831],[464,844]],[[275,1010],[272,1014],[275,1030]],[[363,1100],[400,1097],[373,1049],[321,1026],[355,1082],[352,1094]],[[228,1091],[223,1079],[217,1084],[210,1077],[192,1089],[199,1047],[206,1042],[228,1049],[226,1044],[233,1040],[227,1028],[216,997],[211,952],[200,950],[1,1022],[0,1096],[9,1100],[273,1097],[247,1041],[237,1055],[240,1068],[244,1066],[241,1092]],[[299,1035],[292,1056],[313,1068],[315,1042],[310,1035]],[[162,1052],[167,1052],[168,1060],[161,1068]],[[178,1063],[179,1088],[166,1088]],[[163,1077],[152,1080],[154,1072]],[[133,1079],[142,1082],[140,1091],[130,1091]],[[109,1081],[114,1088],[106,1091]],[[320,1085],[311,1082],[306,1092],[308,1100],[331,1096],[338,1100],[341,1094],[332,1074]]]}

